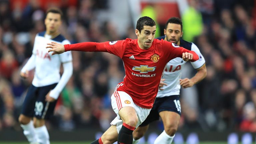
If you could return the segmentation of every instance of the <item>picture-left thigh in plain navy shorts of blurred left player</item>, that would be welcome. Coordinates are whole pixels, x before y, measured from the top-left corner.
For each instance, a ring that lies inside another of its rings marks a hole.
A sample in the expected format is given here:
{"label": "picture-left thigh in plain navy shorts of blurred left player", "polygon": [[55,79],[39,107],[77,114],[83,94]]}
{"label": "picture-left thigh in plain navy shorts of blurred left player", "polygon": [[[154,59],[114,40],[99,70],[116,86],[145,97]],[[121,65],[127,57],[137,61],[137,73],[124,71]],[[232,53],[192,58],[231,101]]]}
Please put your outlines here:
{"label": "picture-left thigh in plain navy shorts of blurred left player", "polygon": [[[24,115],[26,117],[30,117],[30,118],[32,118],[34,116],[34,109],[35,109],[36,99],[38,96],[38,90],[39,90],[39,88],[35,87],[33,85],[31,85],[28,88],[28,92],[24,99],[22,109],[21,109],[22,115]],[[26,117],[21,116],[19,118],[19,121],[23,121],[23,119],[26,119]]]}

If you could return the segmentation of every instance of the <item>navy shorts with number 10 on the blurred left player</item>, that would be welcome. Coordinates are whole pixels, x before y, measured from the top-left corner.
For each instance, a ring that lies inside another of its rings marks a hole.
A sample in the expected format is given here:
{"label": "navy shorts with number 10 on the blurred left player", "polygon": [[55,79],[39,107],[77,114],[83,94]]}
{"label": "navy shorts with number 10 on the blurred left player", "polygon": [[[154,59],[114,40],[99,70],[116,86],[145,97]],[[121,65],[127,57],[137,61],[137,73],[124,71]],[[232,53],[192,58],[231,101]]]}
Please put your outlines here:
{"label": "navy shorts with number 10 on the blurred left player", "polygon": [[46,102],[45,96],[54,89],[57,83],[43,87],[35,87],[31,85],[23,102],[21,114],[27,117],[36,117],[38,119],[49,119],[53,115],[53,111],[57,101]]}

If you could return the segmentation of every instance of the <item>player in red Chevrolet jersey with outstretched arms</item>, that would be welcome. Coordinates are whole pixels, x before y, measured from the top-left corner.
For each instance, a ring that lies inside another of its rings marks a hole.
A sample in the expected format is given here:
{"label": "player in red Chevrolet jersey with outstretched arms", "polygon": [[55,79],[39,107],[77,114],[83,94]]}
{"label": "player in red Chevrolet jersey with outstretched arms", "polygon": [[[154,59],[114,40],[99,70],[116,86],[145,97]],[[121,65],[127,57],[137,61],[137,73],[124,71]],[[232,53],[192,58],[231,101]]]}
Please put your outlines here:
{"label": "player in red Chevrolet jersey with outstretched arms", "polygon": [[149,114],[167,62],[176,57],[181,57],[184,61],[198,60],[194,51],[154,39],[155,31],[154,20],[145,16],[137,21],[135,33],[138,39],[71,45],[48,43],[46,48],[50,48],[48,51],[53,52],[53,55],[70,50],[108,52],[124,62],[124,81],[117,85],[111,96],[112,108],[117,117],[102,137],[92,144],[108,144],[116,140],[118,143],[132,144],[132,132]]}

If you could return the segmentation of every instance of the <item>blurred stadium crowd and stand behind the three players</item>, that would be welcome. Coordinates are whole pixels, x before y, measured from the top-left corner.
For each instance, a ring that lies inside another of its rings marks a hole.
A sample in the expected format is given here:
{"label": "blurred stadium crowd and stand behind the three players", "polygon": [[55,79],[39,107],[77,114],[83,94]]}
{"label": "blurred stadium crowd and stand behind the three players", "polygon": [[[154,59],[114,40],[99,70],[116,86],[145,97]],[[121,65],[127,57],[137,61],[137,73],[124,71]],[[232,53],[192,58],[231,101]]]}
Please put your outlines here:
{"label": "blurred stadium crowd and stand behind the three players", "polygon": [[[176,142],[238,138],[255,143],[256,0],[1,0],[0,143],[26,142],[18,116],[33,71],[26,80],[19,72],[31,56],[36,33],[45,29],[46,9],[54,6],[64,12],[60,31],[71,43],[135,39],[136,21],[144,15],[157,22],[160,36],[168,18],[182,18],[183,38],[199,47],[207,77],[181,91]],[[51,141],[94,140],[115,117],[110,96],[124,77],[122,61],[108,53],[73,51],[72,55],[73,76],[61,93],[55,116],[46,123]],[[183,77],[195,72],[187,64]],[[161,122],[153,123],[145,141],[162,130]]]}

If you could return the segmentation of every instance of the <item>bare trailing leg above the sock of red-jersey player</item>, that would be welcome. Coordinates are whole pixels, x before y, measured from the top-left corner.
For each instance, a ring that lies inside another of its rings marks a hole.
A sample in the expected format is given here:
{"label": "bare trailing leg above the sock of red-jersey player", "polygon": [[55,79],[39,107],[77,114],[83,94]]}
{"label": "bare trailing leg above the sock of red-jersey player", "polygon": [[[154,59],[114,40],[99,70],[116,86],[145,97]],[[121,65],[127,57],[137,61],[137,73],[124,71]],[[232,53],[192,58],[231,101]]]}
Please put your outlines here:
{"label": "bare trailing leg above the sock of red-jersey player", "polygon": [[118,133],[117,128],[114,125],[111,125],[107,131],[104,132],[104,134],[101,136],[101,140],[104,144],[113,144],[117,141]]}

